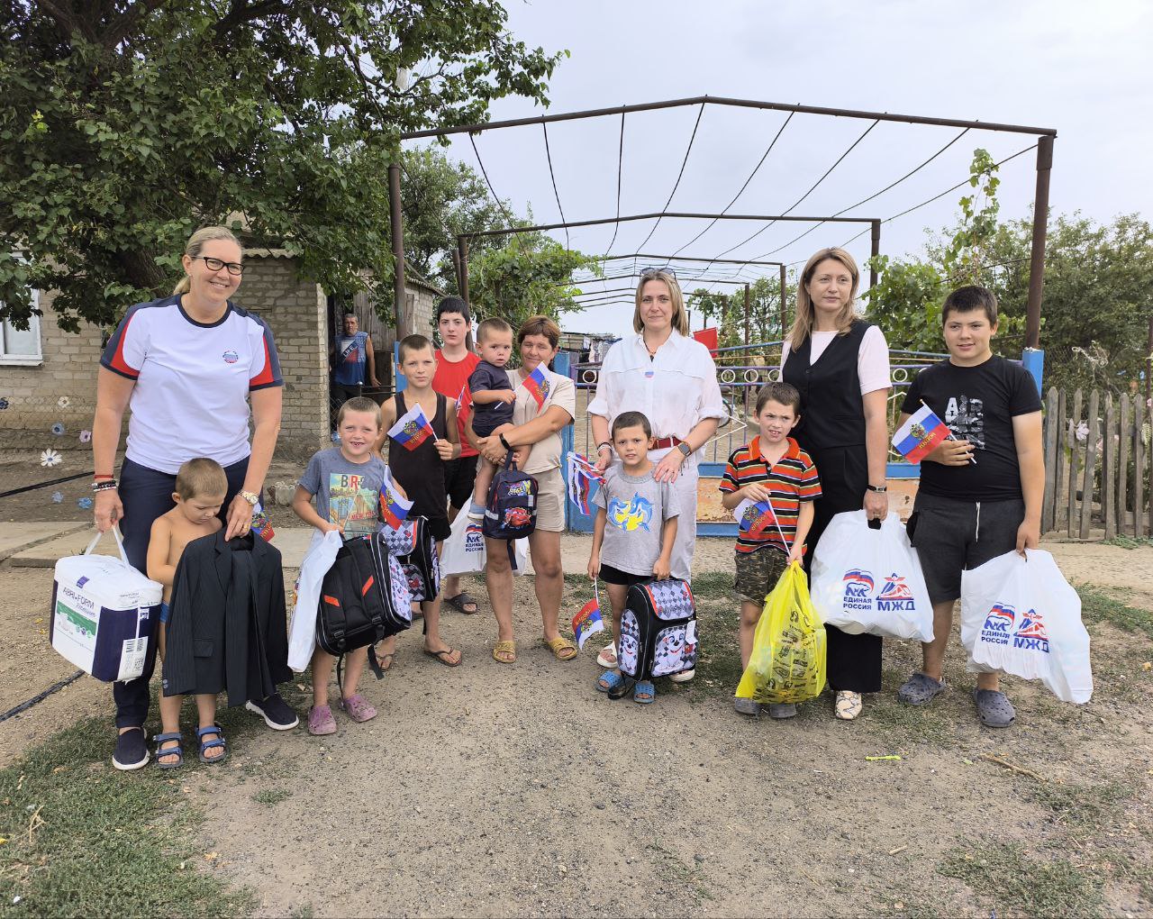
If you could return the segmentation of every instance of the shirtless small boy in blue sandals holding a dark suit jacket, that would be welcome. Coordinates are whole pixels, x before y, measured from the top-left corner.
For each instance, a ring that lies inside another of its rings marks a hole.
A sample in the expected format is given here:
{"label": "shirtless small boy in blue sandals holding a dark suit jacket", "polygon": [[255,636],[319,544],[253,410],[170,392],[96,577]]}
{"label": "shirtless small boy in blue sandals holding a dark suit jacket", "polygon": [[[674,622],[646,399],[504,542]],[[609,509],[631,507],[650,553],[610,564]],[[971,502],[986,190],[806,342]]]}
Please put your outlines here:
{"label": "shirtless small boy in blue sandals holding a dark suit jacket", "polygon": [[[160,604],[160,658],[165,655],[165,632],[168,622],[168,602],[172,598],[172,581],[176,565],[184,553],[184,547],[201,536],[211,536],[223,526],[217,514],[224,505],[228,480],[220,464],[204,457],[190,459],[176,473],[176,490],[172,499],[176,506],[158,517],[152,523],[152,535],[148,544],[148,577],[164,585],[164,602]],[[157,746],[157,763],[161,769],[175,769],[183,763],[180,735],[180,707],[182,695],[160,694],[160,724],[163,732],[153,739]],[[199,715],[201,759],[218,762],[224,759],[224,738],[216,726],[216,695],[197,694],[196,709]],[[210,729],[210,730],[205,730]]]}

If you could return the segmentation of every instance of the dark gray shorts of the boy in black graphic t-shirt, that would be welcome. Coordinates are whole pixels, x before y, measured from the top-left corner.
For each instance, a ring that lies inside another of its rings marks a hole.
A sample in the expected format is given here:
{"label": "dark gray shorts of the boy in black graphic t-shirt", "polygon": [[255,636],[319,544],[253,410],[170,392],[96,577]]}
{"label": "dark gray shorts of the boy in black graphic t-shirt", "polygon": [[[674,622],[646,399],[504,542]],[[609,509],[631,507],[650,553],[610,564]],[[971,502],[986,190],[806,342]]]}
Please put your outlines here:
{"label": "dark gray shorts of the boy in black graphic t-shirt", "polygon": [[929,601],[960,597],[960,572],[1016,549],[1024,519],[1020,498],[974,503],[919,491],[907,532],[921,560]]}

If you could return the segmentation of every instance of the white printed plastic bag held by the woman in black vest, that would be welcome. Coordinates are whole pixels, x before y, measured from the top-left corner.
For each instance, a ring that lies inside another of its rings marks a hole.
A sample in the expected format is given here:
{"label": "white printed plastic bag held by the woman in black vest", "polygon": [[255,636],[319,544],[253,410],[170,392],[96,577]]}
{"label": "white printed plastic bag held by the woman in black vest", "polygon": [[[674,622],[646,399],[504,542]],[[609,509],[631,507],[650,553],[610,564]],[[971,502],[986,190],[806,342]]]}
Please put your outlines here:
{"label": "white printed plastic bag held by the woman in black vest", "polygon": [[933,640],[933,604],[905,525],[890,512],[872,529],[865,511],[829,521],[813,556],[813,605],[826,625],[859,635]]}

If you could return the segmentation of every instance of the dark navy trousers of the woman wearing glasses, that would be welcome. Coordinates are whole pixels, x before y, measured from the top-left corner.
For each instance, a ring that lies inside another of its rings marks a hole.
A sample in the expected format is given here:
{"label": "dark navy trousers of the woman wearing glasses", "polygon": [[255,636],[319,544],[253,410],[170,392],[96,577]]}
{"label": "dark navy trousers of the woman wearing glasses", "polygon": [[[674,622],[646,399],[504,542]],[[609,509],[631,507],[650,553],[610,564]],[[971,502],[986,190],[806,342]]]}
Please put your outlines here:
{"label": "dark navy trousers of the woman wearing glasses", "polygon": [[[248,458],[226,466],[224,472],[228,477],[228,491],[220,507],[220,520],[226,522],[228,505],[244,485]],[[150,469],[127,458],[120,467],[120,502],[125,505],[125,515],[120,519],[120,535],[125,541],[128,564],[145,575],[152,523],[158,517],[176,506],[172,499],[172,492],[175,490],[175,475]],[[148,686],[156,668],[156,641],[149,642],[144,672],[136,679],[112,684],[112,698],[116,703],[116,728],[142,726],[148,720],[151,701]]]}

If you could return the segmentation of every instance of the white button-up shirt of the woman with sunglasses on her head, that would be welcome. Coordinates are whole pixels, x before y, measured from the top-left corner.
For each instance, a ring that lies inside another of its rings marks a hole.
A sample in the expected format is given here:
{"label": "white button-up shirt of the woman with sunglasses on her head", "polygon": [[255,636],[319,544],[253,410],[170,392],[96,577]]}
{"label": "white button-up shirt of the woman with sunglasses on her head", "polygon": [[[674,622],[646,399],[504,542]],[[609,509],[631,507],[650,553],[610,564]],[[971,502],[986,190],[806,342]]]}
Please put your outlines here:
{"label": "white button-up shirt of the woman with sunglasses on her head", "polygon": [[588,413],[611,424],[621,412],[643,413],[654,437],[680,439],[704,419],[728,417],[709,349],[673,332],[649,360],[641,333],[620,339],[604,355]]}

